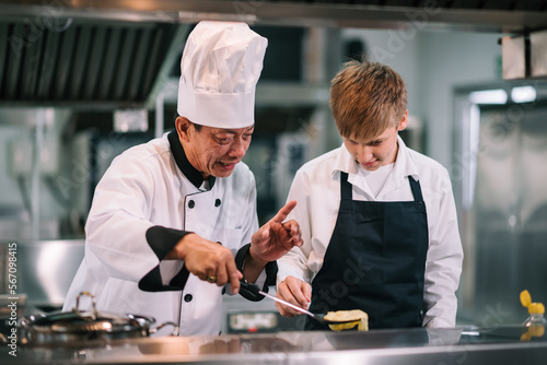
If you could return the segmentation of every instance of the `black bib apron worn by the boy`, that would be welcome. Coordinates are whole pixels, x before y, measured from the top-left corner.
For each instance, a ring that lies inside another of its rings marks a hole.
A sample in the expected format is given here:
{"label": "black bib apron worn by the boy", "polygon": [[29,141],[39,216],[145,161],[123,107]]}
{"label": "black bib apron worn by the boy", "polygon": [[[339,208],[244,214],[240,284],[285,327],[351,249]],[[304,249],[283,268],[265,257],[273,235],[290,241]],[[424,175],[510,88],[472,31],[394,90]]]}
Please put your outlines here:
{"label": "black bib apron worn by the boy", "polygon": [[[353,201],[340,176],[340,209],[323,267],[312,281],[312,313],[361,309],[369,328],[421,327],[428,219],[420,182],[414,201]],[[307,318],[305,329],[328,327]]]}

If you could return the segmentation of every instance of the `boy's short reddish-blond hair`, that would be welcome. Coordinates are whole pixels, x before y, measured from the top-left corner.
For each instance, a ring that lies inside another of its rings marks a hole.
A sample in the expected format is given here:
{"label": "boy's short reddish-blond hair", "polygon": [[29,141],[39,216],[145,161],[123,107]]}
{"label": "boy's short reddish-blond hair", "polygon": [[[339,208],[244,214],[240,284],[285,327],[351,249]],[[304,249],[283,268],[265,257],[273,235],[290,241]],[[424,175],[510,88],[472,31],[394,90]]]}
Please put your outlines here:
{"label": "boy's short reddish-blond hair", "polygon": [[400,75],[364,56],[346,62],[330,83],[330,110],[342,137],[372,139],[397,126],[406,109]]}

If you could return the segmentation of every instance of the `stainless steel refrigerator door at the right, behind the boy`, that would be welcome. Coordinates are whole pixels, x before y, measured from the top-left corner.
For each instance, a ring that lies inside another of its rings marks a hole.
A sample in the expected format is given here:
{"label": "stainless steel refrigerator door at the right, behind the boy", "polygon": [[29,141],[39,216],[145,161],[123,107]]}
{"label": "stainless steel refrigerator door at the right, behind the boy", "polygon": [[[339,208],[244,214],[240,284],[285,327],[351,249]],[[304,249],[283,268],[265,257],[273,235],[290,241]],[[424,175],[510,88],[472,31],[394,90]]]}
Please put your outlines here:
{"label": "stainless steel refrigerator door at the right, behind the boy", "polygon": [[461,90],[456,98],[453,165],[461,168],[452,178],[465,251],[458,320],[477,326],[524,321],[523,290],[547,304],[547,103],[467,97],[515,85]]}

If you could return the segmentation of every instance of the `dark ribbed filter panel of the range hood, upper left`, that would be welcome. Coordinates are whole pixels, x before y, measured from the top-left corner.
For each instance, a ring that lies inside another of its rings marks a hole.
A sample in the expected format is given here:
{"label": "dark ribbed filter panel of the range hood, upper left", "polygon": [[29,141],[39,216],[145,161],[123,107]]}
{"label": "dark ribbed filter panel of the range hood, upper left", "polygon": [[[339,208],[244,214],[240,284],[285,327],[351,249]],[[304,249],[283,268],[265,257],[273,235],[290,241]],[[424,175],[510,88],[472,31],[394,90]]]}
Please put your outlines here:
{"label": "dark ribbed filter panel of the range hood, upper left", "polygon": [[0,19],[1,104],[139,106],[173,64],[185,28],[74,17]]}

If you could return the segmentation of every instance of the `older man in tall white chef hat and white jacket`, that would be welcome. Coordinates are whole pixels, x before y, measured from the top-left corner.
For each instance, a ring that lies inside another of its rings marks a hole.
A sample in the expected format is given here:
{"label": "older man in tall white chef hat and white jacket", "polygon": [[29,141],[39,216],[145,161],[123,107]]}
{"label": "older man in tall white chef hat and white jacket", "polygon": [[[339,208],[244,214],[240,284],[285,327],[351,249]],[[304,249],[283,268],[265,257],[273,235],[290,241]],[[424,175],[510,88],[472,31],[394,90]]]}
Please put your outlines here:
{"label": "older man in tall white chef hat and white jacket", "polygon": [[63,310],[88,291],[98,310],[217,334],[222,286],[236,293],[243,276],[275,284],[275,260],[302,244],[296,222],[283,222],[295,202],[258,229],[254,176],[240,163],[266,46],[244,23],[201,22],[190,33],[176,130],[124,152],[101,179]]}

